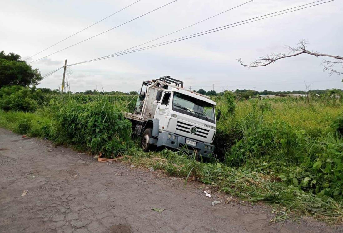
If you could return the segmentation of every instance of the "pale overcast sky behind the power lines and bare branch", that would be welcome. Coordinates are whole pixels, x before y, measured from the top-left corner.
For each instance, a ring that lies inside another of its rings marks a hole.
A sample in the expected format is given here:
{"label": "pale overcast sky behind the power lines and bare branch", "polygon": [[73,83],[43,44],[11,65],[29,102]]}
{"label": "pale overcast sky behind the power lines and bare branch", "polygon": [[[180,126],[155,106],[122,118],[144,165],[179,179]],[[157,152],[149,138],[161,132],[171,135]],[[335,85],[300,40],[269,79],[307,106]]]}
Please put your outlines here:
{"label": "pale overcast sky behind the power lines and bare branch", "polygon": [[[26,59],[136,0],[0,0],[0,50]],[[141,0],[27,60],[42,58],[125,23],[172,0]],[[107,33],[31,63],[46,74],[64,64],[103,57],[204,20],[248,0],[178,0]],[[314,1],[314,0],[312,0]],[[254,0],[148,45],[191,35],[252,17],[296,7],[311,0]],[[136,91],[142,81],[171,76],[192,89],[215,91],[255,89],[343,89],[342,76],[322,71],[323,58],[308,54],[247,69],[246,63],[270,53],[286,53],[285,45],[309,41],[307,49],[342,55],[343,0],[240,25],[219,32],[105,60],[70,66],[70,90]],[[57,89],[63,69],[38,87]]]}

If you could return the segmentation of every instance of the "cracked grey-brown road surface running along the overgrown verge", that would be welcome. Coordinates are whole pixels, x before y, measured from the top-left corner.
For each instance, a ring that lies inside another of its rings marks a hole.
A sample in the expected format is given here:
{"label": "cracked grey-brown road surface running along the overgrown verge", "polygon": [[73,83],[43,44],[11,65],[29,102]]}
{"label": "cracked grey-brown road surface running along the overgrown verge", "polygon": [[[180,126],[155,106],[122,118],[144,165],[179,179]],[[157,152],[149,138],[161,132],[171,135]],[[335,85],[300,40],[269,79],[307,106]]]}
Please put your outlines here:
{"label": "cracked grey-brown road surface running along the overgrown verge", "polygon": [[0,128],[0,232],[339,232],[309,219],[279,231],[264,205],[211,206],[200,184],[182,186]]}

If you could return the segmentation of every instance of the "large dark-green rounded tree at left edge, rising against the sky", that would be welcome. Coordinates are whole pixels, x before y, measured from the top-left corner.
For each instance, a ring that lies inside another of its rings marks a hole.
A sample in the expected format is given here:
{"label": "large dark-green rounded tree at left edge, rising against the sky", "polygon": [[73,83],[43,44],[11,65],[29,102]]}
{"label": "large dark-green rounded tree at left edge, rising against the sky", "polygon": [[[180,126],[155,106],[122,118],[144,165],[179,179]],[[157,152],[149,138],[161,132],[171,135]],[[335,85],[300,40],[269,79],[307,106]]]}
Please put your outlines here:
{"label": "large dark-green rounded tree at left edge, rising against the sky", "polygon": [[43,79],[38,69],[20,60],[19,54],[0,52],[0,88],[5,85],[38,85]]}

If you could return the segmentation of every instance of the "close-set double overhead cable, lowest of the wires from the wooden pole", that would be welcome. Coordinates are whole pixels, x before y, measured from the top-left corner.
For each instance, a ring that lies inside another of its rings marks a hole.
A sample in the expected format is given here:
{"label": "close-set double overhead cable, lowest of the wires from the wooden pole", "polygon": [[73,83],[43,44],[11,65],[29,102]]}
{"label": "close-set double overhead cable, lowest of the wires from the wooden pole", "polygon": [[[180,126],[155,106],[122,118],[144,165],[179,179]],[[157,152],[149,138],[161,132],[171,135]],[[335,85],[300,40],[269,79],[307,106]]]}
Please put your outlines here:
{"label": "close-set double overhead cable, lowest of the wires from the wooden pole", "polygon": [[[244,24],[248,24],[248,23],[252,23],[252,22],[256,22],[256,21],[260,21],[260,20],[263,20],[263,19],[268,19],[270,17],[274,17],[274,16],[278,16],[278,15],[282,15],[282,14],[287,14],[287,13],[291,13],[291,12],[294,12],[294,11],[307,9],[307,8],[310,8],[310,7],[315,7],[317,5],[321,5],[321,4],[324,4],[324,3],[332,2],[332,1],[335,1],[335,0],[330,0],[330,1],[322,2],[322,3],[318,3],[318,2],[321,2],[321,1],[323,1],[323,0],[311,2],[311,3],[308,3],[308,4],[300,5],[300,6],[293,7],[293,8],[288,8],[288,9],[282,10],[282,11],[276,11],[276,12],[273,12],[273,13],[270,13],[270,14],[261,15],[261,16],[258,16],[258,17],[253,17],[253,18],[248,19],[248,20],[243,20],[243,21],[239,21],[239,22],[236,22],[236,23],[227,24],[227,25],[224,25],[224,26],[221,26],[221,27],[213,28],[213,29],[210,29],[210,30],[206,30],[206,31],[203,31],[203,32],[200,32],[200,33],[196,33],[196,34],[180,37],[180,38],[173,39],[173,40],[168,40],[168,41],[161,42],[161,43],[158,43],[158,44],[154,44],[154,45],[150,45],[150,46],[146,46],[146,47],[141,47],[141,48],[129,50],[129,51],[126,51],[126,52],[114,53],[114,54],[107,55],[105,57],[100,57],[100,58],[96,58],[96,59],[92,59],[92,60],[88,60],[88,61],[73,63],[73,64],[70,64],[68,66],[78,65],[78,64],[82,64],[82,63],[86,63],[86,62],[103,60],[103,59],[107,59],[107,58],[111,58],[111,57],[121,56],[121,55],[128,54],[128,53],[133,53],[133,52],[138,52],[138,51],[142,51],[142,50],[146,50],[146,49],[151,49],[151,48],[159,47],[159,46],[162,46],[162,45],[167,45],[167,44],[171,44],[171,43],[174,43],[174,42],[178,42],[178,41],[181,41],[181,40],[186,40],[186,39],[190,39],[190,38],[206,35],[206,34],[209,34],[209,33],[218,32],[220,30],[224,30],[224,29],[228,29],[228,28],[232,28],[232,27],[236,27],[236,26],[240,26],[240,25],[244,25]],[[314,4],[314,3],[318,3],[318,4]],[[310,5],[310,4],[314,4],[314,5]],[[310,5],[310,6],[304,7],[306,5]],[[300,7],[303,7],[303,8],[300,8]],[[299,8],[299,9],[296,9],[296,8]],[[292,10],[292,9],[295,9],[295,10]],[[289,10],[292,10],[292,11],[289,11]],[[286,12],[284,12],[284,11],[286,11]],[[283,13],[280,13],[280,12],[283,12]],[[279,14],[277,14],[277,13],[279,13]],[[265,17],[265,16],[267,16],[267,17]]]}

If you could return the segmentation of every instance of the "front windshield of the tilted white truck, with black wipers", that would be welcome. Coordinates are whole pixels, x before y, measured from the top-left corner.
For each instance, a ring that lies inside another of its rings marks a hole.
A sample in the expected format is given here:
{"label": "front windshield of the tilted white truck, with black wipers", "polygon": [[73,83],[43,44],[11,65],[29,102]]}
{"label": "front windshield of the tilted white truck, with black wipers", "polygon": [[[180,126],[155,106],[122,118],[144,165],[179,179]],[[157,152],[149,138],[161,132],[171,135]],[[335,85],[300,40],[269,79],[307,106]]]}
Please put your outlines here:
{"label": "front windshield of the tilted white truck, with black wipers", "polygon": [[211,103],[181,93],[174,92],[173,110],[215,123],[214,109]]}

